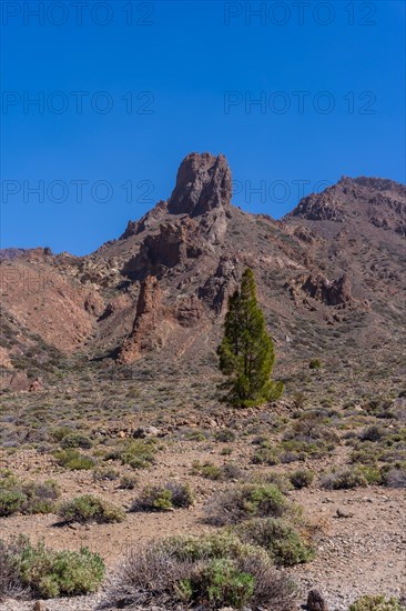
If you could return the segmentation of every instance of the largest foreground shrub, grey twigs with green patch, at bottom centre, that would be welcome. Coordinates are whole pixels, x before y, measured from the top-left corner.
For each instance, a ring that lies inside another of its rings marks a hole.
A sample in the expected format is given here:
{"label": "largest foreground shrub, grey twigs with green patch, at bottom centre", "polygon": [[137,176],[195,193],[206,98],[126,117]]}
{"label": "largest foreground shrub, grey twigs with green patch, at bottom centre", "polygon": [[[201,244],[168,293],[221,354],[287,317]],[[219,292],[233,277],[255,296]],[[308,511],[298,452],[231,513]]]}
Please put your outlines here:
{"label": "largest foreground shrub, grey twigs with green patch, at bottom centre", "polygon": [[114,607],[204,608],[233,605],[292,611],[292,582],[261,548],[220,532],[175,537],[132,549],[108,593]]}

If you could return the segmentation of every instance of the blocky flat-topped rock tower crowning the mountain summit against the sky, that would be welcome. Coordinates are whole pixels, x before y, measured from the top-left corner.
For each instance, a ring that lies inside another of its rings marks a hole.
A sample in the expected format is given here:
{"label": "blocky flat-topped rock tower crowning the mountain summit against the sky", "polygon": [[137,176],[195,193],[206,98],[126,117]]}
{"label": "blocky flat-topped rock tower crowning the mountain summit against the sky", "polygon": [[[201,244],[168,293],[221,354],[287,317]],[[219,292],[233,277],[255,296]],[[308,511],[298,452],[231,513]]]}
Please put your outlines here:
{"label": "blocky flat-topped rock tower crowning the mountain summit against the sky", "polygon": [[224,156],[191,153],[182,161],[168,202],[172,214],[204,214],[231,202],[231,171]]}

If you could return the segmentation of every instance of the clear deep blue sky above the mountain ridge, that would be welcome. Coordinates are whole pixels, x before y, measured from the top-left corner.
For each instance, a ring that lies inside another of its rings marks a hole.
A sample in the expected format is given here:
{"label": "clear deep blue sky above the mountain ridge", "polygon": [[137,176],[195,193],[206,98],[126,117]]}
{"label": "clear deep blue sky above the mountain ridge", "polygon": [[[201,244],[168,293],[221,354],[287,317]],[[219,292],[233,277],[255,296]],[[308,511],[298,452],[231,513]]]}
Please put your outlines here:
{"label": "clear deep blue sky above the mountain ridge", "polygon": [[2,2],[3,248],[91,252],[191,151],[224,153],[233,202],[276,218],[297,181],[405,181],[403,1],[38,4]]}

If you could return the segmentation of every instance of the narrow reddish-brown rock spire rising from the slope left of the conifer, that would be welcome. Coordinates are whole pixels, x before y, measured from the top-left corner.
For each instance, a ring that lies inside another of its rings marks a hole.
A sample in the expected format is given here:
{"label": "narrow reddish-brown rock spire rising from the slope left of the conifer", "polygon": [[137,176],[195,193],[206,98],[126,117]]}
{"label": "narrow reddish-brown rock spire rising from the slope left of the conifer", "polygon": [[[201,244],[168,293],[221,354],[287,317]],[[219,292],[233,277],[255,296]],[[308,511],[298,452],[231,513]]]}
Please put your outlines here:
{"label": "narrow reddish-brown rock spire rising from the slope left of the conifer", "polygon": [[133,330],[119,351],[119,363],[132,363],[142,352],[160,349],[162,313],[161,288],[156,278],[149,276],[141,283]]}

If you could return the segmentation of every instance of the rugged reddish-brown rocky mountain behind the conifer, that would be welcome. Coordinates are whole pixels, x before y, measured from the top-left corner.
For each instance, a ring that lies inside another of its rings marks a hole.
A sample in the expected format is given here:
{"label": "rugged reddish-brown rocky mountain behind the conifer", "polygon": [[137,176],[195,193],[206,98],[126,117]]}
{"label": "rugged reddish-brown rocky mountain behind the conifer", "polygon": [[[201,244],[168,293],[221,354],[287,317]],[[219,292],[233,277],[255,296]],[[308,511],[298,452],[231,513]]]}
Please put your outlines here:
{"label": "rugged reddish-brown rocky mountain behind the conifer", "polygon": [[246,267],[281,372],[313,357],[398,371],[405,236],[403,184],[344,177],[276,221],[232,204],[223,156],[191,153],[171,197],[95,252],[3,251],[2,387],[24,389],[38,370],[51,384],[75,355],[118,369],[213,368]]}

